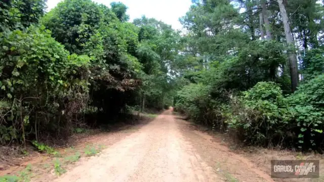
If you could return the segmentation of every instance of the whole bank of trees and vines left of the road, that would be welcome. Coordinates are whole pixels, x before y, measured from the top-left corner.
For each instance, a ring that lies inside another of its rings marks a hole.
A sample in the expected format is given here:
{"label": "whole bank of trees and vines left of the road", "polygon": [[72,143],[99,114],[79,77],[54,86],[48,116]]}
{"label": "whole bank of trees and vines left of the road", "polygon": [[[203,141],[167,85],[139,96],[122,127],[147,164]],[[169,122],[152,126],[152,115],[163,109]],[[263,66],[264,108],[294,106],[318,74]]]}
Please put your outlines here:
{"label": "whole bank of trees and vines left of the road", "polygon": [[[66,0],[0,3],[0,143],[64,138],[119,113],[172,105],[180,34],[127,7]],[[142,106],[143,105],[143,106]]]}

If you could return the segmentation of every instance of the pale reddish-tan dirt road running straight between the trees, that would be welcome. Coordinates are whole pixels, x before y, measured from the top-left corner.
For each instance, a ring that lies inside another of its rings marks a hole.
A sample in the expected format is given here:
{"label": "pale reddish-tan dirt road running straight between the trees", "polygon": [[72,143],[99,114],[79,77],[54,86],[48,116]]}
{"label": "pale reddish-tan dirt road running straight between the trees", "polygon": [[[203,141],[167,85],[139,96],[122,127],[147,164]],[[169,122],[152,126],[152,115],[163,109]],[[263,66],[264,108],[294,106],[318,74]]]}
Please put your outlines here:
{"label": "pale reddish-tan dirt road running straight between the trees", "polygon": [[55,181],[272,181],[165,111]]}

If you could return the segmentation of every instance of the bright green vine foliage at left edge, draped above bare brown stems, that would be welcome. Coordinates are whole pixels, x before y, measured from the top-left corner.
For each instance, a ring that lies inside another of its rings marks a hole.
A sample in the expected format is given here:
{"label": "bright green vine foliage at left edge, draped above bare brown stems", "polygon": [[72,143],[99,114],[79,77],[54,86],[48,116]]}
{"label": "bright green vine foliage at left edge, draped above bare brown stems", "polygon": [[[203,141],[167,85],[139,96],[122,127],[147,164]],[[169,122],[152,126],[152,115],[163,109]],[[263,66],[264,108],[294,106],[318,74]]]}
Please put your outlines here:
{"label": "bright green vine foliage at left edge, draped above bare brown stems", "polygon": [[11,94],[9,99],[25,92],[30,86],[36,88],[36,85],[46,84],[44,87],[48,89],[68,87],[68,69],[86,65],[89,61],[84,57],[69,56],[48,32],[37,27],[30,27],[27,32],[16,30],[3,34],[1,44],[2,83],[3,89]]}

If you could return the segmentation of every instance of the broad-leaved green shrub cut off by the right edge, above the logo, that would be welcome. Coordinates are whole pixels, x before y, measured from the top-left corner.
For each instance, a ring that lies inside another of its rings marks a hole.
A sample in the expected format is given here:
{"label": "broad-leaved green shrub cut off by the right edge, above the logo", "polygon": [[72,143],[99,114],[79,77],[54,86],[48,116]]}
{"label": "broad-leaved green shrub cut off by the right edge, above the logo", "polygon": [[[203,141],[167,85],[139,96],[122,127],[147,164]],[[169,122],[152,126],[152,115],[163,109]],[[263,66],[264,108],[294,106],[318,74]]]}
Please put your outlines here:
{"label": "broad-leaved green shrub cut off by the right edge, above the logo", "polygon": [[324,74],[303,82],[287,99],[299,147],[319,148],[324,142]]}

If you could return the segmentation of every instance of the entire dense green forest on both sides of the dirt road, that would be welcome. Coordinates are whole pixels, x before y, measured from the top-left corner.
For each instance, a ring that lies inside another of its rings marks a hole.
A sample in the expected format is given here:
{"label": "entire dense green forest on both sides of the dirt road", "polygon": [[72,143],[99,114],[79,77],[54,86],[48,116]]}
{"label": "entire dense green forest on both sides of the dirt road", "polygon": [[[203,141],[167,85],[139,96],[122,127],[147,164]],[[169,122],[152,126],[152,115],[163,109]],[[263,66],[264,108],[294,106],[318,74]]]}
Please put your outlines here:
{"label": "entire dense green forest on both sides of the dirt road", "polygon": [[324,149],[324,6],[192,0],[184,30],[127,5],[0,2],[0,144],[174,106],[246,145]]}

